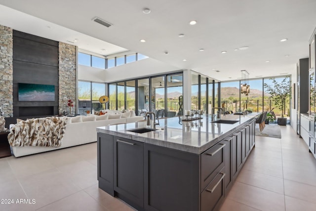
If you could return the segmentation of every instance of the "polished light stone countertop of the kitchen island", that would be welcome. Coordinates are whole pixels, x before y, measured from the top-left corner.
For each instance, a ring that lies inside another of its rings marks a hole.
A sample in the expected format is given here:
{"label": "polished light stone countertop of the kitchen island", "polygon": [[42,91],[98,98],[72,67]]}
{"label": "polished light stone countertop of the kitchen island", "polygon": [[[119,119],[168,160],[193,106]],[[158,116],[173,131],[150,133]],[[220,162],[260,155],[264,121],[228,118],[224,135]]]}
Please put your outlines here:
{"label": "polished light stone countertop of the kitchen island", "polygon": [[97,132],[135,141],[201,154],[240,127],[254,120],[255,116],[259,114],[260,113],[252,113],[245,116],[232,114],[226,116],[222,115],[222,120],[238,121],[233,125],[210,123],[211,119],[209,115],[207,115],[202,116],[203,119],[201,120],[190,122],[181,121],[180,117],[160,119],[159,126],[156,126],[158,130],[145,133],[136,133],[127,130],[144,128],[146,127],[146,122],[97,127],[96,130]]}

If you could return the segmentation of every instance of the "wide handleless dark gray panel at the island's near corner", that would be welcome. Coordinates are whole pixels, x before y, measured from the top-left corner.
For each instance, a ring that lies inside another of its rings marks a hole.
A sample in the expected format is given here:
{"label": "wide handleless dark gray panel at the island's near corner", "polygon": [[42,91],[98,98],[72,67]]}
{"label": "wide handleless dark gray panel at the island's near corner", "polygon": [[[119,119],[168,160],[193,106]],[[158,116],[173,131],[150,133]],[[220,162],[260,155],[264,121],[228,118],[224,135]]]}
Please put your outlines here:
{"label": "wide handleless dark gray panel at the island's near corner", "polygon": [[199,210],[199,155],[144,143],[146,211]]}

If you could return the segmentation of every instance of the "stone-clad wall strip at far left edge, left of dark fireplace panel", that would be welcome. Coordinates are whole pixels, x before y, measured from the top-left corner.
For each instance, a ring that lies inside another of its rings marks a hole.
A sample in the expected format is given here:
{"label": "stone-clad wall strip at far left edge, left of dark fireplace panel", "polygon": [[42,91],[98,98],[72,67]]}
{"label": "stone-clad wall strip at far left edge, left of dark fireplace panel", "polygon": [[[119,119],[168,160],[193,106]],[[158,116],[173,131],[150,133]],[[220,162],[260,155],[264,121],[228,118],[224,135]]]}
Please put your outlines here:
{"label": "stone-clad wall strip at far left edge, left of dark fireplace panel", "polygon": [[13,116],[13,32],[0,25],[0,107],[4,116]]}

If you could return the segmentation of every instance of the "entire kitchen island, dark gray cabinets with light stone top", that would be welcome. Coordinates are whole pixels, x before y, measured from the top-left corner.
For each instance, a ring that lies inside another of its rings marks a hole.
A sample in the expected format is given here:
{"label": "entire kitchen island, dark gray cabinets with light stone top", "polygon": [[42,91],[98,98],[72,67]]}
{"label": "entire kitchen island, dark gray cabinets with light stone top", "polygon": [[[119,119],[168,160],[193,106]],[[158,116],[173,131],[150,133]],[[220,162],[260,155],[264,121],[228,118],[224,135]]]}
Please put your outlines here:
{"label": "entire kitchen island, dark gray cabinets with light stone top", "polygon": [[99,187],[139,211],[218,210],[254,147],[256,115],[98,127]]}

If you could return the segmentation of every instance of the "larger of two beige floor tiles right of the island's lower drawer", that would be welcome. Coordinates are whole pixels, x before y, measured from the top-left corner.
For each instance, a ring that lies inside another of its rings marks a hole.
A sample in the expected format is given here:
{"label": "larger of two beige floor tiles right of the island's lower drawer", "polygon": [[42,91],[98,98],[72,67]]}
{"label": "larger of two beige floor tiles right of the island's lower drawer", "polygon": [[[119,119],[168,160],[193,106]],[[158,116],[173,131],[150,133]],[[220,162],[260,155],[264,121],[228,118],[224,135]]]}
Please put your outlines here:
{"label": "larger of two beige floor tiles right of the island's lower drawer", "polygon": [[284,195],[235,182],[228,198],[262,211],[284,211]]}

